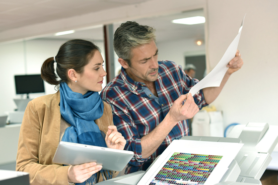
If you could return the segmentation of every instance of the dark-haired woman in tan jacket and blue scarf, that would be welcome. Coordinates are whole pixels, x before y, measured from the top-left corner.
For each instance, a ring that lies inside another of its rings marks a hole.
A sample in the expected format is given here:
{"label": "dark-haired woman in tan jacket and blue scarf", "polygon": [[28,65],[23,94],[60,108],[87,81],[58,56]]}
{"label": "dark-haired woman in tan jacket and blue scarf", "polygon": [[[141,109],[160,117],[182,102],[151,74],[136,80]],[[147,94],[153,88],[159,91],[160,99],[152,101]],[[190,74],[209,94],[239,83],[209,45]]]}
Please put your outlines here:
{"label": "dark-haired woman in tan jacket and blue scarf", "polygon": [[113,125],[111,107],[98,94],[106,75],[102,65],[99,48],[84,40],[66,42],[43,63],[42,78],[60,89],[35,98],[24,113],[16,170],[28,172],[31,185],[92,185],[117,176],[95,162],[64,166],[52,161],[61,140],[124,149],[126,140]]}

